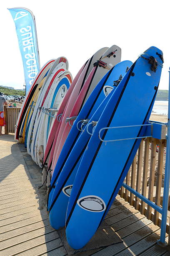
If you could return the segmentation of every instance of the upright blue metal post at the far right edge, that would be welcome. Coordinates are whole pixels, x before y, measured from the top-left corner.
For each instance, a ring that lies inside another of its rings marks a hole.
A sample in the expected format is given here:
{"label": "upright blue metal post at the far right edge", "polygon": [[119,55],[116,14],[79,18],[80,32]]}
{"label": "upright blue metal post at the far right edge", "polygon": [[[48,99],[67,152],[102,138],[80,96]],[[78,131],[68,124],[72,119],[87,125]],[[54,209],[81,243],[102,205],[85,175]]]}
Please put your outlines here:
{"label": "upright blue metal post at the far right edge", "polygon": [[[170,100],[170,71],[169,71],[169,100]],[[163,212],[161,220],[160,243],[166,244],[166,223],[168,213],[168,199],[169,199],[169,184],[170,184],[170,102],[168,101],[168,132],[167,132],[167,148],[166,148],[166,162],[165,162],[165,179],[163,190]],[[159,243],[158,242],[158,243]],[[159,244],[160,244],[159,243]]]}

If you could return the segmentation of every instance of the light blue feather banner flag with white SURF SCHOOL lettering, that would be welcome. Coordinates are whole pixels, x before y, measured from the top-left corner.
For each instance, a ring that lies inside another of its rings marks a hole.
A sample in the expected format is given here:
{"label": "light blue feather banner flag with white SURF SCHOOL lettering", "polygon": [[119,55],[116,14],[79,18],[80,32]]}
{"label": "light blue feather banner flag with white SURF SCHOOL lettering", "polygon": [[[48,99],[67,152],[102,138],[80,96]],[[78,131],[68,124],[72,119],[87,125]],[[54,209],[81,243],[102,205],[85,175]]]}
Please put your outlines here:
{"label": "light blue feather banner flag with white SURF SCHOOL lettering", "polygon": [[8,9],[15,22],[18,43],[23,59],[26,93],[40,69],[35,17],[26,8]]}

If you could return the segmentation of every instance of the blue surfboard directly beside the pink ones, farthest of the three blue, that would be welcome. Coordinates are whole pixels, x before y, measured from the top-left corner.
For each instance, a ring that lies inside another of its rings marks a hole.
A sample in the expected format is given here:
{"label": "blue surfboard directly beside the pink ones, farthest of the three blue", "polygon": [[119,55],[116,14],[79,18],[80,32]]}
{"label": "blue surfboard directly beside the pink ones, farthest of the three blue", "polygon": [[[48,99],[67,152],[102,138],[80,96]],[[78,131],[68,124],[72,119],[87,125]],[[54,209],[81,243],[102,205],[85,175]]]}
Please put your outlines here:
{"label": "blue surfboard directly beside the pink ones, farthest of the three blue", "polygon": [[130,68],[131,65],[132,65],[131,61],[122,61],[117,65],[115,65],[115,67],[113,67],[109,72],[107,72],[107,74],[105,74],[105,76],[101,79],[101,81],[97,84],[95,89],[92,91],[91,95],[87,99],[87,102],[85,103],[79,115],[77,116],[77,119],[75,120],[74,125],[72,126],[71,131],[67,137],[67,140],[65,141],[65,144],[62,148],[60,157],[57,161],[54,173],[52,175],[51,186],[49,189],[48,200],[47,200],[48,210],[50,209],[51,198],[55,189],[57,178],[70,152],[72,151],[73,146],[75,145],[77,139],[82,133],[80,127],[83,121],[90,119],[92,117],[92,115],[95,113],[95,111],[97,110],[101,102],[108,95],[110,90],[112,90],[113,87],[115,90],[115,88],[117,87],[116,82],[115,82],[115,86],[113,86],[113,82],[117,81],[120,78],[120,75],[124,76],[127,69]]}

